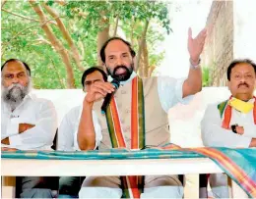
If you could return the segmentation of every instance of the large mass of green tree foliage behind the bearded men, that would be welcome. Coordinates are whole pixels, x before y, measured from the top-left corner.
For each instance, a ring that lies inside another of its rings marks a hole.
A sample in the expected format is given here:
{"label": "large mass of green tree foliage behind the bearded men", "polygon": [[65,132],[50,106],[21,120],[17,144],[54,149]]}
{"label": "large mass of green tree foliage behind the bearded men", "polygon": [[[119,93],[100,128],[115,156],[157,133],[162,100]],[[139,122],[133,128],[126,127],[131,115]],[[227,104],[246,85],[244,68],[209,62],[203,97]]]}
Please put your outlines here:
{"label": "large mass of green tree foliage behind the bearded men", "polygon": [[[42,2],[38,1],[38,5]],[[60,16],[69,31],[75,45],[82,55],[85,69],[95,66],[97,61],[97,33],[110,25],[109,35],[119,18],[119,28],[125,33],[135,49],[141,38],[145,22],[151,21],[147,32],[150,66],[160,65],[164,51],[159,52],[160,41],[164,34],[171,31],[168,19],[167,3],[160,1],[66,1],[64,6],[49,0],[46,4]],[[28,19],[10,13],[1,12],[2,62],[18,58],[32,68],[33,85],[36,88],[66,88],[66,69],[59,54],[48,42],[38,16],[28,1],[7,1],[4,9]],[[48,19],[50,15],[43,10]],[[102,19],[105,24],[102,24]],[[134,28],[132,26],[134,25]],[[50,25],[55,36],[63,43],[71,55],[71,49],[56,25]],[[131,35],[133,38],[131,40]],[[80,45],[80,44],[83,45]],[[70,56],[71,58],[71,56]],[[71,58],[76,87],[81,87],[80,72]]]}

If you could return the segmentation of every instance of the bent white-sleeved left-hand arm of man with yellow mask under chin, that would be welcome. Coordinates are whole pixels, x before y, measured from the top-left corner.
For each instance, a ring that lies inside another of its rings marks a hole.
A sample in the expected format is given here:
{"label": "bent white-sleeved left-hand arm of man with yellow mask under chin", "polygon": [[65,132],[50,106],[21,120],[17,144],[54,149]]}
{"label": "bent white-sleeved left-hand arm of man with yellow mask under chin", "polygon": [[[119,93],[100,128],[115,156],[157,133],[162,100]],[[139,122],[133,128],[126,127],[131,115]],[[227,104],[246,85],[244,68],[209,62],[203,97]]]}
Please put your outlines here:
{"label": "bent white-sleeved left-hand arm of man with yellow mask under chin", "polygon": [[206,109],[201,122],[202,139],[205,146],[214,147],[244,147],[250,146],[252,138],[232,132],[222,127],[222,119],[217,105],[210,105]]}

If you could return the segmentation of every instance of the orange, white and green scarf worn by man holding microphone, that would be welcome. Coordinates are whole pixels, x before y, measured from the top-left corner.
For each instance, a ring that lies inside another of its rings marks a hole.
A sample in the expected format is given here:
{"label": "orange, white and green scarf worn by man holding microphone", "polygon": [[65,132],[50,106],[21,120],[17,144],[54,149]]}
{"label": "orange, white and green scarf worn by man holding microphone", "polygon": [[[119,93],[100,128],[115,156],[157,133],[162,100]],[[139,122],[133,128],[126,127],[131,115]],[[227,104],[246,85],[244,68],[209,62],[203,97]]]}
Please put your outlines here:
{"label": "orange, white and green scarf worn by man holding microphone", "polygon": [[[145,110],[143,81],[132,79],[131,95],[131,146],[127,146],[120,123],[115,98],[112,97],[106,109],[106,123],[113,148],[141,149],[145,147]],[[140,198],[144,188],[144,176],[120,176],[123,198]]]}

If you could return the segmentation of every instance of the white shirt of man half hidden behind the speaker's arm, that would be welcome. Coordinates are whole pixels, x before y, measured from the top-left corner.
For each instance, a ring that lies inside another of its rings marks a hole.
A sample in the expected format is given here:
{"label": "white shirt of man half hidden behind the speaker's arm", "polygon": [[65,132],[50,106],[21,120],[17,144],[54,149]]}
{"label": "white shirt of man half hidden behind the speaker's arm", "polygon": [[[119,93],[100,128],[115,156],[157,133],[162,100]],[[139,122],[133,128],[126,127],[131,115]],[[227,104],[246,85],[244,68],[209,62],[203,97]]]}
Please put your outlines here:
{"label": "white shirt of man half hidden behind the speaker's arm", "polygon": [[[78,145],[78,127],[82,114],[83,106],[74,107],[63,118],[57,136],[57,150],[60,151],[80,151]],[[98,124],[96,113],[93,111],[93,121],[96,131],[96,147],[99,145],[102,134],[101,127]],[[95,148],[96,148],[95,147]]]}

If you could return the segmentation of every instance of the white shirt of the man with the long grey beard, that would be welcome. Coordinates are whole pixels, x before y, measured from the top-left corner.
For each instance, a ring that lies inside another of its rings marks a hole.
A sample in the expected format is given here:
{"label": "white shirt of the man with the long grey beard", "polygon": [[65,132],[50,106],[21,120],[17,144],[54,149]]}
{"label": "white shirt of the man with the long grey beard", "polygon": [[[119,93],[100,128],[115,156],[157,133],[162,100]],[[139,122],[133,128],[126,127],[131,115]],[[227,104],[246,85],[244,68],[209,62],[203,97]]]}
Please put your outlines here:
{"label": "white shirt of the man with the long grey beard", "polygon": [[[19,133],[19,124],[34,124],[32,128]],[[57,114],[51,101],[27,95],[12,112],[2,101],[1,140],[9,137],[10,145],[1,147],[20,150],[51,150],[57,129]]]}

